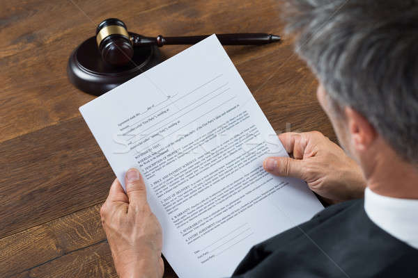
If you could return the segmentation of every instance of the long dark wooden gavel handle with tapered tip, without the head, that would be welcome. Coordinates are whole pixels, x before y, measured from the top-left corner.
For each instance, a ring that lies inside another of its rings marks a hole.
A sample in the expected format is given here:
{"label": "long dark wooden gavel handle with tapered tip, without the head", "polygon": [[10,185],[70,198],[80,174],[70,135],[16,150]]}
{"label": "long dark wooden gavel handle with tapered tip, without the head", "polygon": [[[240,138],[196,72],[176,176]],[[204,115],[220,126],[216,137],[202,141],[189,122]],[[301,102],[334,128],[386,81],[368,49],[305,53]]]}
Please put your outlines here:
{"label": "long dark wooden gavel handle with tapered tip, without the head", "polygon": [[[157,45],[162,47],[166,44],[195,44],[201,40],[208,38],[209,35],[192,35],[187,37],[167,37],[162,35],[157,38],[144,37],[135,33],[130,33],[134,47]],[[247,44],[268,44],[278,42],[281,38],[279,35],[266,33],[235,33],[235,34],[217,34],[219,42],[223,45],[247,45]]]}

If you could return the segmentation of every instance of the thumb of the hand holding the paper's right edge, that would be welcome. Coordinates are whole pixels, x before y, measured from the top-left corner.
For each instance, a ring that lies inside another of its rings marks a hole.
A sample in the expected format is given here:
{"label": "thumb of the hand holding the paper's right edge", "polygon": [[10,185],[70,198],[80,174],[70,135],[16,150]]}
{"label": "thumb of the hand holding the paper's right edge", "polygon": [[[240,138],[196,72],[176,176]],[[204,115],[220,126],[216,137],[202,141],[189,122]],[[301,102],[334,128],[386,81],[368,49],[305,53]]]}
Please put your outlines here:
{"label": "thumb of the hand holding the paper's right edge", "polygon": [[268,157],[263,162],[264,169],[276,176],[304,179],[304,161],[290,157]]}

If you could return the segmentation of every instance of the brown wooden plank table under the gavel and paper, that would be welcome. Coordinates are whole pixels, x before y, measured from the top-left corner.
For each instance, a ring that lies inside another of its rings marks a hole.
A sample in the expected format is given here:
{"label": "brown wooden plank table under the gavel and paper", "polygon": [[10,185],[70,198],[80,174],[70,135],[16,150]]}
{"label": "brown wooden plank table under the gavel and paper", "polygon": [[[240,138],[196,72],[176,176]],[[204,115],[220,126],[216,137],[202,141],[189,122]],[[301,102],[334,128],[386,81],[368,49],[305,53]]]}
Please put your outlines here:
{"label": "brown wooden plank table under the gavel and paper", "polygon": [[[78,111],[93,97],[65,72],[98,22],[118,17],[144,35],[284,35],[277,2],[2,1],[0,277],[117,277],[99,215],[114,174]],[[316,129],[335,140],[314,76],[286,36],[226,51],[277,132]],[[176,277],[168,264],[164,277]]]}

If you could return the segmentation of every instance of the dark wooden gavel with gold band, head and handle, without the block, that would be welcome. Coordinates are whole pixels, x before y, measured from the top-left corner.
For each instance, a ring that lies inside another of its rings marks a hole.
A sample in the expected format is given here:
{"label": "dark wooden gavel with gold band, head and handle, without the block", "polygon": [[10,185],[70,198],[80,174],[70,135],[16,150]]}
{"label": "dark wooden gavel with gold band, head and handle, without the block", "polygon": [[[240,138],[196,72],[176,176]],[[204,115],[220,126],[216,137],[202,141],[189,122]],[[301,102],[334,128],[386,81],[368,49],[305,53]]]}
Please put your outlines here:
{"label": "dark wooden gavel with gold band, head and handle, without the block", "polygon": [[[123,66],[134,56],[134,47],[155,45],[162,47],[166,44],[195,44],[209,35],[193,35],[183,37],[145,37],[127,31],[125,23],[117,18],[104,19],[96,29],[96,42],[102,59],[114,66]],[[223,45],[268,44],[281,40],[279,35],[267,33],[234,33],[217,34]]]}

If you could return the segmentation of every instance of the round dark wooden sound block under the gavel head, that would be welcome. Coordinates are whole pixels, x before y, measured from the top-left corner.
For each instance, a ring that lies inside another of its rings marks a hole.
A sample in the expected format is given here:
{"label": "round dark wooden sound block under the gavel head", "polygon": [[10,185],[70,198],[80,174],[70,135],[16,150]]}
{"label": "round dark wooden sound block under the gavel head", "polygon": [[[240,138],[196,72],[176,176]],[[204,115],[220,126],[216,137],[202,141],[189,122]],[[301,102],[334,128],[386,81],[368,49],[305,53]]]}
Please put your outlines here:
{"label": "round dark wooden sound block under the gavel head", "polygon": [[160,49],[146,46],[134,48],[134,56],[129,64],[120,67],[109,65],[102,60],[95,37],[91,37],[72,51],[67,74],[79,90],[100,96],[161,61]]}

